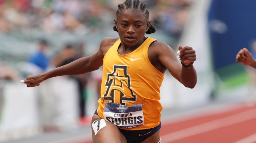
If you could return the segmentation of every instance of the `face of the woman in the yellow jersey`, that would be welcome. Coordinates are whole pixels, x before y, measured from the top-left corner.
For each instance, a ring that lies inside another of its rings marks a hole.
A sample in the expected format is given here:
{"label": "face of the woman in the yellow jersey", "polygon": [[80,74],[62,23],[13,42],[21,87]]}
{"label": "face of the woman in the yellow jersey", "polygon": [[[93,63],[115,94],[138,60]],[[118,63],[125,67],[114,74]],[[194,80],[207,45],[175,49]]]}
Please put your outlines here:
{"label": "face of the woman in the yellow jersey", "polygon": [[149,28],[146,15],[135,9],[124,9],[115,20],[121,41],[128,47],[141,44],[146,30]]}

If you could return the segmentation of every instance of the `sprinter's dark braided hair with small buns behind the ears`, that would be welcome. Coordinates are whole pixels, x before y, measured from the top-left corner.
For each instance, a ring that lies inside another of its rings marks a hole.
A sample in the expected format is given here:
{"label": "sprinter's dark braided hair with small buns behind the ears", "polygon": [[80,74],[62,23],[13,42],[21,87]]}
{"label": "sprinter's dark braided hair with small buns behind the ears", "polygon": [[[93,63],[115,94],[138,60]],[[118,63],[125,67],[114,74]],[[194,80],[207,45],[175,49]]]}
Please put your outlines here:
{"label": "sprinter's dark braided hair with small buns behind the ears", "polygon": [[[123,4],[118,5],[118,10],[116,11],[116,17],[120,15],[120,11],[124,9],[134,8],[137,10],[141,10],[144,12],[144,14],[147,16],[147,23],[149,22],[149,11],[147,9],[147,4],[141,3],[139,0],[126,0]],[[117,31],[116,26],[113,27],[113,29]],[[153,26],[152,24],[149,25],[148,30],[146,31],[146,34],[151,34],[156,32],[156,26]]]}

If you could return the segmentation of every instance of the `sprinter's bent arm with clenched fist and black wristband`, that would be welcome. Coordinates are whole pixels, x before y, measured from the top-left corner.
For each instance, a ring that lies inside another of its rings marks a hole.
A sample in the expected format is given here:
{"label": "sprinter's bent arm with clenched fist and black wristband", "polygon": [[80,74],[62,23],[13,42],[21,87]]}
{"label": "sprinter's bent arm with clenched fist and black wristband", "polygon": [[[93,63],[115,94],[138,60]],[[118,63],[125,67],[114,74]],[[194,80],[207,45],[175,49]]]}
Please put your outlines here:
{"label": "sprinter's bent arm with clenched fist and black wristband", "polygon": [[[174,78],[180,81],[185,87],[194,88],[197,82],[194,66],[186,68],[180,64],[173,49],[163,42],[157,42],[157,55],[160,62],[168,69]],[[190,64],[196,60],[195,51],[191,47],[179,47],[180,60]]]}

